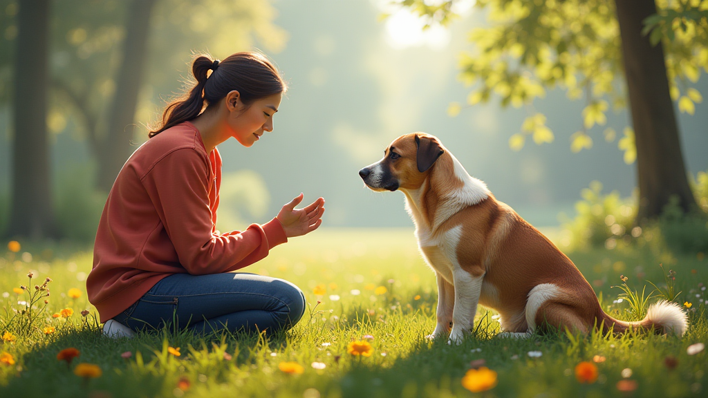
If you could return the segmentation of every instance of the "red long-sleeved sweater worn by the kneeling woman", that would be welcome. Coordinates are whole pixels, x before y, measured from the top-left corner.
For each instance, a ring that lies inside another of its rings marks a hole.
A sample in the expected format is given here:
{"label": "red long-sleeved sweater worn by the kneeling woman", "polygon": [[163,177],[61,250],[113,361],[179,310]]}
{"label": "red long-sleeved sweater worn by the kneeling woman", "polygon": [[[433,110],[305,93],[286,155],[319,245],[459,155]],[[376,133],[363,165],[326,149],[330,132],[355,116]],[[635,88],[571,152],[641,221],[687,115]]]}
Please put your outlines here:
{"label": "red long-sleeved sweater worn by the kneeling woman", "polygon": [[205,275],[244,268],[285,243],[277,219],[219,234],[222,161],[207,154],[192,123],[147,140],[120,170],[103,208],[86,280],[101,322],[175,273]]}

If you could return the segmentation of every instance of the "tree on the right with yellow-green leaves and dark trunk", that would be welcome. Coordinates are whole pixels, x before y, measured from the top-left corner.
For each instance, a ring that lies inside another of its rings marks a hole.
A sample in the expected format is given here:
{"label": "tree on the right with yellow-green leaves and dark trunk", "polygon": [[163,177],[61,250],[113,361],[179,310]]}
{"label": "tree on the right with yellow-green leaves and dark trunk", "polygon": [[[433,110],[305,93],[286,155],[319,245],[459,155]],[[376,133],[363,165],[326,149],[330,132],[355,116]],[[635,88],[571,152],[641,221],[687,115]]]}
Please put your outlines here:
{"label": "tree on the right with yellow-green leaves and dark trunk", "polygon": [[[592,147],[590,130],[605,125],[610,103],[615,110],[624,108],[628,93],[634,129],[624,129],[618,146],[627,163],[637,160],[640,222],[657,217],[671,196],[678,197],[685,211],[695,207],[672,98],[679,101],[680,110],[692,114],[693,104],[702,96],[688,81],[697,81],[700,67],[708,68],[705,18],[680,14],[687,4],[704,10],[708,1],[658,2],[659,14],[653,1],[478,0],[476,6],[487,9],[491,27],[472,31],[476,52],[462,59],[462,79],[476,84],[467,99],[470,105],[489,101],[496,93],[502,106],[529,110],[522,131],[509,139],[514,150],[520,150],[527,137],[537,144],[554,140],[545,116],[533,108],[534,100],[547,89],[559,87],[569,98],[586,101],[581,129],[571,135],[573,152]],[[454,3],[404,0],[401,4],[428,23],[445,23],[451,19]],[[656,18],[670,11],[678,16],[666,17],[668,23],[666,18]],[[658,33],[651,33],[653,43],[646,35],[645,21],[657,25]],[[685,29],[673,35],[667,25]],[[617,84],[622,76],[627,92]],[[459,108],[451,104],[449,113]],[[604,135],[614,140],[616,133],[607,129]]]}

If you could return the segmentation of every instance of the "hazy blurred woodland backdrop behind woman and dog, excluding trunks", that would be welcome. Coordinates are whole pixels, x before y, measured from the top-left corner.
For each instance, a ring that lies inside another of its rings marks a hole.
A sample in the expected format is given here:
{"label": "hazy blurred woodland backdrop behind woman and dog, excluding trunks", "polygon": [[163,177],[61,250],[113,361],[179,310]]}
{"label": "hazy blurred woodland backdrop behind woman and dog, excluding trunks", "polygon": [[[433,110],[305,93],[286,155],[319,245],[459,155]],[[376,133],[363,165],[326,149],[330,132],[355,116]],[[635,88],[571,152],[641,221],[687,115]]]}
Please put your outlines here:
{"label": "hazy blurred woodland backdrop behind woman and dog, excluding trunks", "polygon": [[[139,61],[124,57],[135,29],[134,4],[50,2],[47,132],[55,238],[93,239],[112,182],[102,176],[102,165],[105,152],[115,149],[108,137],[117,134],[111,120],[123,86],[120,72]],[[401,195],[367,191],[357,171],[377,161],[398,135],[426,131],[499,200],[536,226],[561,230],[564,249],[607,246],[612,239],[618,246],[636,244],[670,220],[693,220],[698,240],[708,227],[702,216],[683,210],[653,224],[635,222],[635,132],[613,4],[147,1],[149,23],[141,39],[147,50],[139,61],[133,122],[118,123],[118,133],[129,135],[122,140],[128,155],[147,139],[147,126],[159,119],[166,100],[189,84],[195,53],[223,58],[257,48],[278,64],[290,91],[275,132],[250,149],[234,142],[219,147],[222,231],[270,220],[301,191],[306,200],[326,198],[326,227],[411,226]],[[665,46],[685,171],[705,211],[708,181],[700,172],[708,169],[708,112],[700,93],[708,84],[699,77],[708,66],[701,8],[708,3],[656,4],[646,34]],[[0,233],[6,234],[18,10],[16,0],[0,0]],[[561,144],[525,145],[527,140]],[[578,193],[582,200],[574,205]],[[666,227],[661,239],[669,244],[690,228]]]}

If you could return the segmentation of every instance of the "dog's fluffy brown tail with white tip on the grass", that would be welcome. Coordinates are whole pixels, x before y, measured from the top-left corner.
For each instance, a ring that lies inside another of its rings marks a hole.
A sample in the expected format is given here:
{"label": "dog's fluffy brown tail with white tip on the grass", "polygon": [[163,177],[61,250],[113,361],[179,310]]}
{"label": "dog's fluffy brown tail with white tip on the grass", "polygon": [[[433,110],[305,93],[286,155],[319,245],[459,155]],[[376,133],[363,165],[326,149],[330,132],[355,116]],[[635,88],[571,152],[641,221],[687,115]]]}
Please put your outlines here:
{"label": "dog's fluffy brown tail with white tip on the grass", "polygon": [[605,331],[611,328],[615,333],[624,333],[629,328],[647,330],[653,328],[657,333],[673,333],[676,336],[683,336],[688,329],[688,317],[680,305],[666,300],[660,300],[650,305],[646,310],[646,317],[639,322],[619,321],[605,312],[603,315]]}

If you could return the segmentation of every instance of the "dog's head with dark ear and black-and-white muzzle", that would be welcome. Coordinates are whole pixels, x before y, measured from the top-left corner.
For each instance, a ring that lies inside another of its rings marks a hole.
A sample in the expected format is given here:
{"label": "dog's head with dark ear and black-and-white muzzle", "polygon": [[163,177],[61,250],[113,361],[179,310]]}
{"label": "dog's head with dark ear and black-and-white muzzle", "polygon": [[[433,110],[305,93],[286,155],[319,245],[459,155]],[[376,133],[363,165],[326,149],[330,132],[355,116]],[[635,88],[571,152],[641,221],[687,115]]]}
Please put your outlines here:
{"label": "dog's head with dark ear and black-and-white muzzle", "polygon": [[445,153],[438,138],[424,132],[401,135],[384,149],[383,159],[359,171],[373,191],[417,189],[430,168]]}

